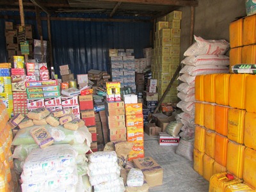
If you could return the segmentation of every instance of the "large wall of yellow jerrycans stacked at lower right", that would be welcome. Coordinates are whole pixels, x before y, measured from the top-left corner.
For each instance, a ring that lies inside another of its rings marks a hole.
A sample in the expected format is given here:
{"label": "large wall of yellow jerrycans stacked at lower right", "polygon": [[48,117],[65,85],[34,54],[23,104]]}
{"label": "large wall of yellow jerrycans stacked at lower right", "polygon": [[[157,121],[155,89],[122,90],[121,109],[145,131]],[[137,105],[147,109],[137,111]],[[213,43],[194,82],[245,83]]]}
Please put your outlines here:
{"label": "large wall of yellow jerrycans stacked at lower right", "polygon": [[196,76],[194,169],[210,181],[209,191],[241,182],[256,188],[254,85],[250,74]]}

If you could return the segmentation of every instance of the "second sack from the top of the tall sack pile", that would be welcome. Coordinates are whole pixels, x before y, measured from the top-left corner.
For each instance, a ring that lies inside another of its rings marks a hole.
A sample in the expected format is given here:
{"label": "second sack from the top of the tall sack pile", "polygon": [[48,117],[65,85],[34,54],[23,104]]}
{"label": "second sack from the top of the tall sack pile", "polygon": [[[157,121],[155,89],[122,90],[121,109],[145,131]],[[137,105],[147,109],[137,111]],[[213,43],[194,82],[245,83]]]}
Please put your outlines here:
{"label": "second sack from the top of the tall sack pile", "polygon": [[185,65],[229,65],[229,57],[225,55],[198,55],[186,57],[181,63]]}

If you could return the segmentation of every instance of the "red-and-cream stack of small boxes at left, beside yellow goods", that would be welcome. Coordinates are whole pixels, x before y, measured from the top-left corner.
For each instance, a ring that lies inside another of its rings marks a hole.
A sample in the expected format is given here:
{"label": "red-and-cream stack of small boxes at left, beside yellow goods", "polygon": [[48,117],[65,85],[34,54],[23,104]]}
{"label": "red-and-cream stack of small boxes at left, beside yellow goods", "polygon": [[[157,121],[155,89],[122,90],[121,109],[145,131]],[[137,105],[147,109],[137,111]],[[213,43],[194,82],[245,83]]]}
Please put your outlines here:
{"label": "red-and-cream stack of small boxes at left, beside yellow goods", "polygon": [[25,89],[26,73],[24,68],[12,68],[13,115],[28,113]]}

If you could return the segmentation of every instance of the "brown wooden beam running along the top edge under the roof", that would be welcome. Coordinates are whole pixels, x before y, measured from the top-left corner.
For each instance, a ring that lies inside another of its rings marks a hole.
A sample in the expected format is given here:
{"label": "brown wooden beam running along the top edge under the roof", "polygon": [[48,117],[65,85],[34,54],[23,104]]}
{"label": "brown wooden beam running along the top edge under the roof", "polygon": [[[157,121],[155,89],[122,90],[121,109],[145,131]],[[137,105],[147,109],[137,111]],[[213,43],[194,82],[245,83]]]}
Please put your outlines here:
{"label": "brown wooden beam running along the top edge under the roof", "polygon": [[198,6],[198,0],[97,0],[104,2],[138,3],[138,4],[161,4],[168,6]]}

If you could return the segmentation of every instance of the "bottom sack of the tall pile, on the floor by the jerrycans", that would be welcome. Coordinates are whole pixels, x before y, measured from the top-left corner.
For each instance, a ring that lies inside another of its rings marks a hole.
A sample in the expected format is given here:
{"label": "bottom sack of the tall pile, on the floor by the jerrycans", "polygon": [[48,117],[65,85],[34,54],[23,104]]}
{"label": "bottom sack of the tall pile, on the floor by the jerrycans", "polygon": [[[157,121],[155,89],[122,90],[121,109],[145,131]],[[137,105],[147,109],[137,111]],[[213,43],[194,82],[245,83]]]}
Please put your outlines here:
{"label": "bottom sack of the tall pile, on the floor by the jerrycans", "polygon": [[194,140],[184,140],[183,138],[180,139],[179,145],[176,149],[176,154],[189,161],[193,161],[193,149],[194,149]]}

